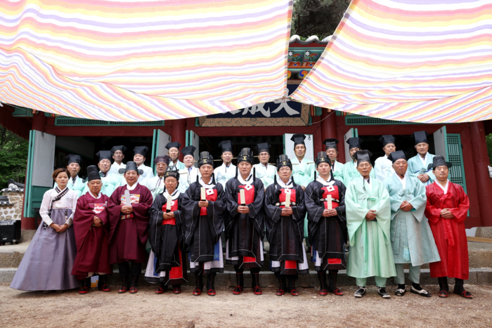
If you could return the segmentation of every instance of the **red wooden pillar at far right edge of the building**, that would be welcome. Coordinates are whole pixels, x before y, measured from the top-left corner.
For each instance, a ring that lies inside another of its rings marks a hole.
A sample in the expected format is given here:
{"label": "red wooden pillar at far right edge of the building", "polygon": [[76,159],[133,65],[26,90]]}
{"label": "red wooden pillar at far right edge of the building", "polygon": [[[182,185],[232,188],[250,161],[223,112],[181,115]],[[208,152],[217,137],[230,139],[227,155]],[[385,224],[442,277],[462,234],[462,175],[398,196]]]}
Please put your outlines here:
{"label": "red wooden pillar at far right edge of the building", "polygon": [[488,152],[485,141],[484,122],[470,123],[470,137],[472,141],[473,164],[477,176],[477,190],[479,190],[479,208],[481,225],[492,226],[492,181],[488,176]]}

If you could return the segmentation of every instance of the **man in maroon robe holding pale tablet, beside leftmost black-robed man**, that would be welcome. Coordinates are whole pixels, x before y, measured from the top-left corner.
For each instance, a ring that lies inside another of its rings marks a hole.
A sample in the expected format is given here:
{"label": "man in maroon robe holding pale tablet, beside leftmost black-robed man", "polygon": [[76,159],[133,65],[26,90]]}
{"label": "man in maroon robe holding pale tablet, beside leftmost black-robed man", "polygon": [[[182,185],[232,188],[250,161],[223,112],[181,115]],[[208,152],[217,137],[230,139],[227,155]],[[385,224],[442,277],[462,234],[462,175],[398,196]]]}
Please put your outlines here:
{"label": "man in maroon robe holding pale tablet, beside leftmost black-robed man", "polygon": [[128,162],[124,171],[127,184],[116,188],[108,202],[110,264],[118,263],[119,266],[119,277],[122,278],[119,294],[138,291],[138,276],[147,256],[148,210],[153,198],[150,190],[138,183],[139,171],[135,162]]}

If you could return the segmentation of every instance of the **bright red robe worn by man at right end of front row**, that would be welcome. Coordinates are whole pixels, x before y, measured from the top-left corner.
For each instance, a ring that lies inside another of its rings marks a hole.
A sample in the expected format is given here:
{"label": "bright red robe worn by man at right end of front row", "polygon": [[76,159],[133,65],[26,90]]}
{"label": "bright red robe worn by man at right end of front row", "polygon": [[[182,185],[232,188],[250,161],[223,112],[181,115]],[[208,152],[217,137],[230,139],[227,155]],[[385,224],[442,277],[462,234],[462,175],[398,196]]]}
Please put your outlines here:
{"label": "bright red robe worn by man at right end of front row", "polygon": [[[448,191],[431,183],[426,187],[425,216],[436,240],[440,262],[429,263],[431,277],[453,277],[468,280],[468,243],[465,218],[470,200],[460,185],[448,182]],[[455,218],[442,218],[441,210],[449,209]]]}

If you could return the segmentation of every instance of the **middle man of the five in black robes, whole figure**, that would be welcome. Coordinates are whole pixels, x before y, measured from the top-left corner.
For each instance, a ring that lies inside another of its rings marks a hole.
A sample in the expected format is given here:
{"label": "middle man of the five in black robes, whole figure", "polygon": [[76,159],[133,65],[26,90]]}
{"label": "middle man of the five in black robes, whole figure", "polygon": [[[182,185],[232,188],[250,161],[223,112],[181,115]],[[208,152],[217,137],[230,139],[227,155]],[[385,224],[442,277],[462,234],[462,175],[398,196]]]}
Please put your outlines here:
{"label": "middle man of the five in black robes, whole figure", "polygon": [[241,294],[244,289],[245,268],[250,268],[254,294],[263,294],[259,287],[259,271],[263,265],[264,186],[259,178],[255,178],[254,171],[251,172],[253,158],[252,150],[243,148],[238,155],[236,176],[226,183],[230,214],[226,217],[226,263],[234,265],[237,282],[234,295]]}

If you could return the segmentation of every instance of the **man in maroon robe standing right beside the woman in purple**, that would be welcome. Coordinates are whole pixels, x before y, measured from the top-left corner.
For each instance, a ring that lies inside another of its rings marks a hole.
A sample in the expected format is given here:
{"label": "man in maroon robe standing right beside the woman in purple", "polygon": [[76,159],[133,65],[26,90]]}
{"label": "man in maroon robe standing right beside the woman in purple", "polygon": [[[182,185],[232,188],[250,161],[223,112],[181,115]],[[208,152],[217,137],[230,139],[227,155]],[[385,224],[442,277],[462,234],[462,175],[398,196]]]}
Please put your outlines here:
{"label": "man in maroon robe standing right beside the woman in purple", "polygon": [[84,281],[79,294],[87,294],[91,288],[91,277],[98,275],[98,289],[111,291],[106,284],[106,275],[112,273],[108,247],[108,204],[109,197],[101,193],[103,183],[97,166],[87,167],[89,192],[79,197],[74,215],[74,233],[77,256],[72,275]]}

